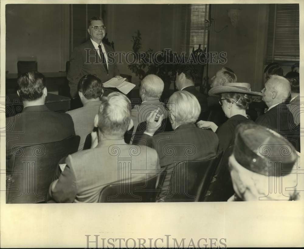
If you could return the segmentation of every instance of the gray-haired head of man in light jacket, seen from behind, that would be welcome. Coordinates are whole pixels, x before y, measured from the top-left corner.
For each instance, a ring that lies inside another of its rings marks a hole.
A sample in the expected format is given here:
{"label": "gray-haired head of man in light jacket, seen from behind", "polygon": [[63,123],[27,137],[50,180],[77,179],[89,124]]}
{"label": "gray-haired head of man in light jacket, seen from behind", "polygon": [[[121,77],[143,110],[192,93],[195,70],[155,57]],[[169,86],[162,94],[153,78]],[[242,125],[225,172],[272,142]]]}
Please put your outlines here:
{"label": "gray-haired head of man in light jacket, seen from behind", "polygon": [[98,112],[98,129],[105,134],[123,135],[128,129],[130,100],[126,95],[112,92],[101,98]]}

